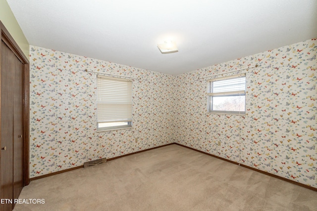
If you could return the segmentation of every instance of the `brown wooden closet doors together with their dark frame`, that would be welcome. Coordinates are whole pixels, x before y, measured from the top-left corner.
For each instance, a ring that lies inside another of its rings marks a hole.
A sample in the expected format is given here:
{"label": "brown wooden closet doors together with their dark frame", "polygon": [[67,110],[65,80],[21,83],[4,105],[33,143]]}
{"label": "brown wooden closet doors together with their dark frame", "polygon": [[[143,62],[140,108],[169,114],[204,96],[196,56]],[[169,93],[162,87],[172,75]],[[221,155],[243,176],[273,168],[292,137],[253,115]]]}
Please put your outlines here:
{"label": "brown wooden closet doors together with their dark frame", "polygon": [[29,184],[29,64],[0,22],[0,211]]}

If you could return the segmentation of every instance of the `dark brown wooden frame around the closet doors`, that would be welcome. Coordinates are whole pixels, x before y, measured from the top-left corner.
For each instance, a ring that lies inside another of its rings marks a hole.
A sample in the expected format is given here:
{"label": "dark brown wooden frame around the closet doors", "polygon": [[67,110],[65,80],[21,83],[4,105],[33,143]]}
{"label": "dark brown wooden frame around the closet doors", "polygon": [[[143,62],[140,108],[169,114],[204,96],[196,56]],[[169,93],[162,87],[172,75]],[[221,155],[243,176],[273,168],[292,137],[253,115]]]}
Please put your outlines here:
{"label": "dark brown wooden frame around the closet doors", "polygon": [[[12,36],[9,34],[7,29],[0,21],[0,37],[15,56],[23,64],[23,186],[30,183],[30,172],[29,172],[29,137],[30,137],[30,67],[29,60],[24,55],[18,44],[14,41]],[[0,45],[0,56],[1,56],[1,45]],[[1,68],[1,66],[0,66]],[[1,114],[0,114],[1,115]],[[1,140],[0,140],[1,144]],[[1,154],[1,152],[0,152]],[[1,159],[1,158],[0,158]]]}

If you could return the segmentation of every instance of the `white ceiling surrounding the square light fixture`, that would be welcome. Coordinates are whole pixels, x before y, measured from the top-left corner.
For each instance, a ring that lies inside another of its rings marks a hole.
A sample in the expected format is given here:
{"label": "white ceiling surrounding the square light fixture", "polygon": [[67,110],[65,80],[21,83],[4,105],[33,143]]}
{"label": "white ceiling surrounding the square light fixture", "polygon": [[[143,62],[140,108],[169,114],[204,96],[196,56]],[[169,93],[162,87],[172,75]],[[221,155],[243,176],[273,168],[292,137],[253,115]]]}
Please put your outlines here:
{"label": "white ceiling surrounding the square light fixture", "polygon": [[317,37],[317,0],[7,2],[31,45],[171,75]]}

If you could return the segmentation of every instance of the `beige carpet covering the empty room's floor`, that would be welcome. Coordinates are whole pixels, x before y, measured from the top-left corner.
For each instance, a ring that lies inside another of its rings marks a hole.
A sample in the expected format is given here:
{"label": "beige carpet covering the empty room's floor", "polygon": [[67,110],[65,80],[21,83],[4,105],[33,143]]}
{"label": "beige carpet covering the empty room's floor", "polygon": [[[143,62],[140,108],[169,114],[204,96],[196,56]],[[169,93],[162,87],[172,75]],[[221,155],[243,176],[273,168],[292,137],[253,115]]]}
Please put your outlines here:
{"label": "beige carpet covering the empty room's floor", "polygon": [[31,181],[14,211],[317,211],[317,192],[178,145]]}

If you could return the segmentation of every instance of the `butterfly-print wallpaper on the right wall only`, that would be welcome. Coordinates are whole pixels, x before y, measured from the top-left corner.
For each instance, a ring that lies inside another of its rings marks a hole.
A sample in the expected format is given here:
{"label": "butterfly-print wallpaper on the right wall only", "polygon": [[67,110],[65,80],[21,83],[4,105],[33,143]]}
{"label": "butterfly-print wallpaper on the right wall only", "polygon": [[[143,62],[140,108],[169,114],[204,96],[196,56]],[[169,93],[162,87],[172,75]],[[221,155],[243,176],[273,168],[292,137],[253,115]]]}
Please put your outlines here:
{"label": "butterfly-print wallpaper on the right wall only", "polygon": [[[175,142],[317,188],[316,54],[313,39],[177,76]],[[246,115],[207,113],[199,78],[256,64],[241,71]]]}

